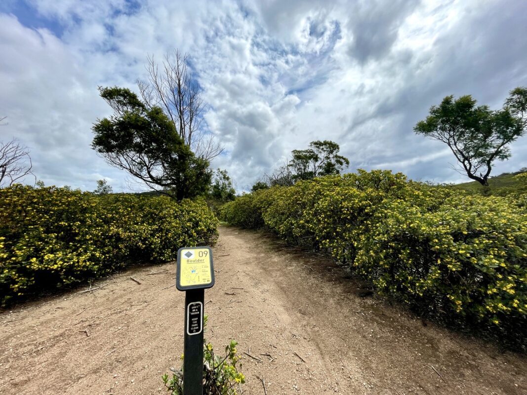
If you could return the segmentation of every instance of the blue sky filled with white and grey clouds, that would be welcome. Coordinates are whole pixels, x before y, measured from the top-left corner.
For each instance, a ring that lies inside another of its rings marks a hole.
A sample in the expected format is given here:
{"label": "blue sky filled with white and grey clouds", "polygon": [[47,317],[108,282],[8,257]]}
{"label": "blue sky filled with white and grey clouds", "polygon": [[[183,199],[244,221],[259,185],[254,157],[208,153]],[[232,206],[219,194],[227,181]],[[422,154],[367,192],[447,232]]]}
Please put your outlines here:
{"label": "blue sky filled with white and grey clouds", "polygon": [[[526,23],[523,0],[2,0],[0,140],[30,147],[46,185],[128,190],[90,147],[93,122],[111,113],[97,86],[137,91],[147,55],[179,48],[226,148],[212,166],[238,190],[325,139],[350,171],[465,181],[413,126],[446,95],[500,108],[526,86]],[[512,154],[494,174],[527,166],[527,136]]]}

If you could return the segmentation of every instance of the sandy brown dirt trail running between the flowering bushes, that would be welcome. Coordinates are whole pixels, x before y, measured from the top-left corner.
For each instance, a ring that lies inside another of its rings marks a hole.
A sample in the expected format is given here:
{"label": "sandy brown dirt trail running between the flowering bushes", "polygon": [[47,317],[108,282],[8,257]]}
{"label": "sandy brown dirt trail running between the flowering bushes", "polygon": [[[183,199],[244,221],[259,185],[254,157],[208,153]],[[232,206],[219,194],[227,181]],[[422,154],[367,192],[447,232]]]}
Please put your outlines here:
{"label": "sandy brown dirt trail running between the flowering bushes", "polygon": [[[243,356],[247,394],[264,393],[256,375],[269,395],[527,393],[527,358],[360,298],[317,255],[221,227],[214,264],[206,337],[262,360]],[[174,263],[136,266],[0,314],[0,394],[165,393],[161,374],[183,347],[174,276]]]}

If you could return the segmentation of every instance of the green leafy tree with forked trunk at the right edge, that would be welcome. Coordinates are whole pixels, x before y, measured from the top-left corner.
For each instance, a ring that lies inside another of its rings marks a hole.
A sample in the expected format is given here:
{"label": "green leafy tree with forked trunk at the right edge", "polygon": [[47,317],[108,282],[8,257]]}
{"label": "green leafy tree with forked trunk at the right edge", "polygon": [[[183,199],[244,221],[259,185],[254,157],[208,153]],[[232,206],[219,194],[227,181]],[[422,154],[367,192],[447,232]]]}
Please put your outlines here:
{"label": "green leafy tree with forked trunk at the right edge", "polygon": [[471,95],[446,96],[414,132],[446,143],[470,179],[488,186],[494,161],[509,159],[509,144],[525,134],[527,88],[510,92],[502,110],[476,106]]}

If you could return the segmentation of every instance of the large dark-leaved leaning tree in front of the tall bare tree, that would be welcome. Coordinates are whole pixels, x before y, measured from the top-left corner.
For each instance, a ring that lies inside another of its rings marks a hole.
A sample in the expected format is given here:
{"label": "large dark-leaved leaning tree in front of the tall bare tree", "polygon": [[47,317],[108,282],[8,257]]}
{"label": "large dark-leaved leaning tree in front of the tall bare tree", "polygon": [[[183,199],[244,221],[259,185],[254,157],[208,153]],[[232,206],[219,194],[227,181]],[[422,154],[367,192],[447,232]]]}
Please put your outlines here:
{"label": "large dark-leaved leaning tree in front of the tall bare tree", "polygon": [[92,147],[106,162],[178,200],[207,191],[209,162],[192,153],[160,107],[144,104],[126,88],[99,91],[114,111],[92,127]]}

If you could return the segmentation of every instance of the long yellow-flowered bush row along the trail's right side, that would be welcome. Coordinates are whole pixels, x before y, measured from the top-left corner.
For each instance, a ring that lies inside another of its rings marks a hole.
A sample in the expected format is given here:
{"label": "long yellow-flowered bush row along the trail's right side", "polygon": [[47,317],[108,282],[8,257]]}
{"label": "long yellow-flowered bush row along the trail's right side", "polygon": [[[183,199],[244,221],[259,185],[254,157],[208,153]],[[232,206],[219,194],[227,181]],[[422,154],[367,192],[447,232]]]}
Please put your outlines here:
{"label": "long yellow-flowered bush row along the trail's right side", "polygon": [[422,312],[525,335],[527,208],[518,196],[359,171],[243,195],[222,219],[324,250]]}

